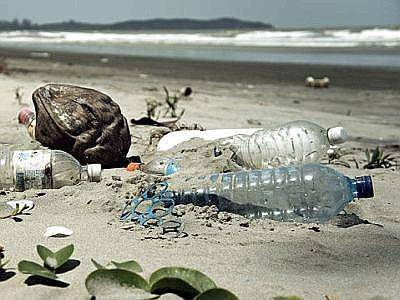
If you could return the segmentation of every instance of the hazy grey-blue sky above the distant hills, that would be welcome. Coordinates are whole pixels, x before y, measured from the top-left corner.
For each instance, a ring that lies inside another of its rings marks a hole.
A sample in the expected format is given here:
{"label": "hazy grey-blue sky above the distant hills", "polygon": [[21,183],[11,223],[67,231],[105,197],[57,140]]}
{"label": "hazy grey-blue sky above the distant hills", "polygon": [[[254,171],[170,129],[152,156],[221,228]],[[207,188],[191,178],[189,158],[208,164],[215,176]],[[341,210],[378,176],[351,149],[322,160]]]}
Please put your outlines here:
{"label": "hazy grey-blue sky above the distant hills", "polygon": [[400,0],[0,0],[0,19],[39,23],[216,17],[279,27],[400,24]]}

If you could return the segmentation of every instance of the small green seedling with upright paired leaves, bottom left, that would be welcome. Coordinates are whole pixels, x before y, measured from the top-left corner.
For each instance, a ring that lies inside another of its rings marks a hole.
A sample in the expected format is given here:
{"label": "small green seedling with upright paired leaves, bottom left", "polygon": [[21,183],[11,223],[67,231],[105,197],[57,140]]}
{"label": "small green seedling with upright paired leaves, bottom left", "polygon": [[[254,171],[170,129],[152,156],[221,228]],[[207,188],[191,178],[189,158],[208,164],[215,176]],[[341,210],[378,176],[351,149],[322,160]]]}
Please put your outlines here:
{"label": "small green seedling with upright paired leaves, bottom left", "polygon": [[64,264],[67,263],[74,252],[74,245],[68,245],[57,252],[37,245],[36,250],[39,257],[43,260],[43,265],[33,261],[22,260],[18,263],[18,271],[23,274],[56,280],[58,279],[57,272],[64,267]]}

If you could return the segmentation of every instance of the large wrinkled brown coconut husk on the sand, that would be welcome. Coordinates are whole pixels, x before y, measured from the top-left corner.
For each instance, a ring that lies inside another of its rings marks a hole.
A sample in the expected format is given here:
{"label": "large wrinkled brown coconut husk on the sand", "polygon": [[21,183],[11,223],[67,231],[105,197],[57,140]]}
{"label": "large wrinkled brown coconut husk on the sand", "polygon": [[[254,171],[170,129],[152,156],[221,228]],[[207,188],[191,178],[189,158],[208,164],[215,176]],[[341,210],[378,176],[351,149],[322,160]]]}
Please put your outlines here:
{"label": "large wrinkled brown coconut husk on the sand", "polygon": [[109,96],[93,89],[48,84],[32,95],[36,139],[72,154],[82,164],[126,165],[130,132],[121,110]]}

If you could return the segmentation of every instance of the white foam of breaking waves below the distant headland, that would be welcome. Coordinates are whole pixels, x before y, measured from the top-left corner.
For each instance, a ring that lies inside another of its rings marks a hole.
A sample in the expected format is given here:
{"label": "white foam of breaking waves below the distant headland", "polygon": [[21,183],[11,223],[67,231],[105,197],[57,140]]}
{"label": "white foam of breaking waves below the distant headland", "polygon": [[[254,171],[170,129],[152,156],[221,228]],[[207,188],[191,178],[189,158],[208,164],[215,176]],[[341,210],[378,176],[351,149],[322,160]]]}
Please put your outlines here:
{"label": "white foam of breaking waves below the distant headland", "polygon": [[0,32],[0,43],[57,44],[175,44],[247,47],[396,47],[400,29],[251,31],[237,34],[116,33],[116,32]]}

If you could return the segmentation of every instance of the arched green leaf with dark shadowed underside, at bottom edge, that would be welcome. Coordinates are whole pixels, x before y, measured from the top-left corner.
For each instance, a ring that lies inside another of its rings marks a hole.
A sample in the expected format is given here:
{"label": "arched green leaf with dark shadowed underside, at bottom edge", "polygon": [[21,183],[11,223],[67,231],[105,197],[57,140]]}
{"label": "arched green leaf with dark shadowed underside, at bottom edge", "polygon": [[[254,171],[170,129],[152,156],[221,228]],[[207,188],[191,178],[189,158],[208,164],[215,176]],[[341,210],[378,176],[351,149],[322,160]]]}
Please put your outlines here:
{"label": "arched green leaf with dark shadowed underside, at bottom edge", "polygon": [[187,268],[166,267],[150,276],[150,292],[174,293],[183,298],[194,298],[198,294],[217,286],[203,273]]}

